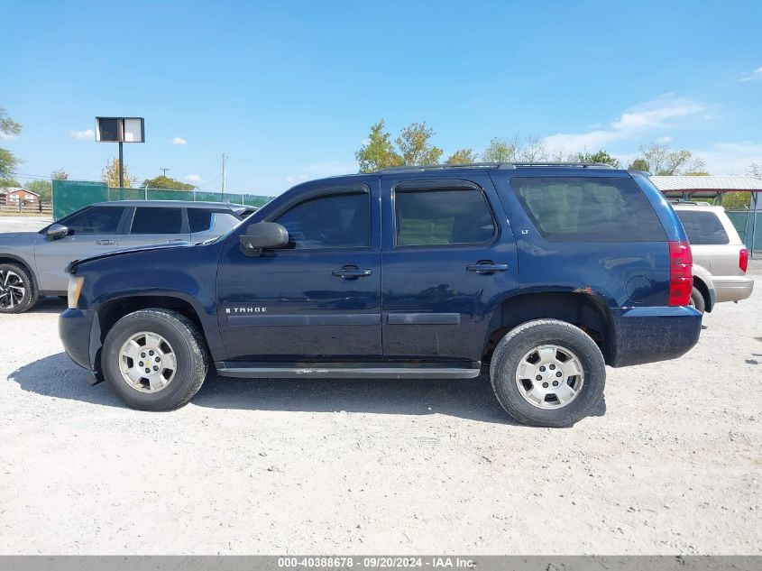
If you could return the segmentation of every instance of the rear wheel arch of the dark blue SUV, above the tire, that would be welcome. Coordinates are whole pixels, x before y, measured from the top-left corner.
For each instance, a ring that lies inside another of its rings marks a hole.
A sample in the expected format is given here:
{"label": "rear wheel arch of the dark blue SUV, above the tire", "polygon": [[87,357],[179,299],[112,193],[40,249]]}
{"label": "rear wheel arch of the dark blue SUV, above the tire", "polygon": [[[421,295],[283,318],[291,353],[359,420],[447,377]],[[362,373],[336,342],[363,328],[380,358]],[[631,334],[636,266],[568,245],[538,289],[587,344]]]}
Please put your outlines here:
{"label": "rear wheel arch of the dark blue SUV, above the tire", "polygon": [[535,319],[559,319],[580,327],[599,346],[605,362],[610,362],[614,342],[611,310],[599,295],[535,291],[503,299],[494,309],[482,344],[482,363],[490,363],[495,346],[506,333]]}

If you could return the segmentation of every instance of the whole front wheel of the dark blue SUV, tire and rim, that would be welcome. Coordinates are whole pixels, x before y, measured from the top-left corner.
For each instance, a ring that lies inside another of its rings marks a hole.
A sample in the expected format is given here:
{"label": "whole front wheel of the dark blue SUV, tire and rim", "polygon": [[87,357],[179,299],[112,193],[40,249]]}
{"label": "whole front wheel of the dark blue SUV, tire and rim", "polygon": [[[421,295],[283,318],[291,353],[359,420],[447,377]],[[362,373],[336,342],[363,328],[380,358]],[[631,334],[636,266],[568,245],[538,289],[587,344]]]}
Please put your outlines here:
{"label": "whole front wheel of the dark blue SUV, tire and rim", "polygon": [[201,388],[208,358],[190,319],[168,309],[142,309],[108,332],[101,364],[108,386],[128,406],[173,410]]}

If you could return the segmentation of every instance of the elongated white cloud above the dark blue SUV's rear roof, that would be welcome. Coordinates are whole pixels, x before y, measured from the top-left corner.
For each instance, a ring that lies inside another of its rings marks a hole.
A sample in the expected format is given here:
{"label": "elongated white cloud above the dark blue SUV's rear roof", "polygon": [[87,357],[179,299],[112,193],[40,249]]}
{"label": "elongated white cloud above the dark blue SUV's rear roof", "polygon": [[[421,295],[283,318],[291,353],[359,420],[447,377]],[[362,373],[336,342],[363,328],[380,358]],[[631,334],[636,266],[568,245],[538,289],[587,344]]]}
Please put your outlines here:
{"label": "elongated white cloud above the dark blue SUV's rear roof", "polygon": [[564,152],[595,150],[609,143],[632,141],[650,131],[673,127],[680,119],[694,119],[705,110],[706,106],[700,102],[667,95],[628,109],[607,128],[586,133],[553,134],[544,142],[549,149]]}

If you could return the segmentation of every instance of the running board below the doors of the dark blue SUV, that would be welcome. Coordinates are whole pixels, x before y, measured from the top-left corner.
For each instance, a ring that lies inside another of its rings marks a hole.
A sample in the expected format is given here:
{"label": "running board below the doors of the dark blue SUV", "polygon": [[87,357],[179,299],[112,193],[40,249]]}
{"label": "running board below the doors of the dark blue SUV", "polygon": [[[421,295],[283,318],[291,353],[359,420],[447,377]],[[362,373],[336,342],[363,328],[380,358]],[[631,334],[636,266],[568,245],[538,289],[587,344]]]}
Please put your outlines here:
{"label": "running board below the doors of the dark blue SUV", "polygon": [[224,377],[246,379],[474,379],[482,371],[477,362],[459,364],[419,363],[215,363]]}

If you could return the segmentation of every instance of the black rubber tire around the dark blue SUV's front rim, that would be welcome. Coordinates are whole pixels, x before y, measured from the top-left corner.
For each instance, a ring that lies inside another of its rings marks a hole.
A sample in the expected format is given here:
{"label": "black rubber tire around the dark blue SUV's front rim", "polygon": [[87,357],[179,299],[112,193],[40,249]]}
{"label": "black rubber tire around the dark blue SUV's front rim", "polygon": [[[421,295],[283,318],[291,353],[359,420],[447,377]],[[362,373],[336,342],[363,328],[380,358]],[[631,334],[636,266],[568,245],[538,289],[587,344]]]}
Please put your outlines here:
{"label": "black rubber tire around the dark blue SUV's front rim", "polygon": [[[164,337],[175,355],[174,376],[159,391],[138,391],[120,370],[123,345],[140,332]],[[206,344],[196,324],[169,309],[141,309],[119,319],[106,335],[101,353],[108,386],[124,404],[138,410],[174,410],[187,404],[204,383],[208,366]]]}

